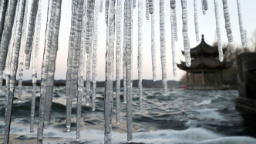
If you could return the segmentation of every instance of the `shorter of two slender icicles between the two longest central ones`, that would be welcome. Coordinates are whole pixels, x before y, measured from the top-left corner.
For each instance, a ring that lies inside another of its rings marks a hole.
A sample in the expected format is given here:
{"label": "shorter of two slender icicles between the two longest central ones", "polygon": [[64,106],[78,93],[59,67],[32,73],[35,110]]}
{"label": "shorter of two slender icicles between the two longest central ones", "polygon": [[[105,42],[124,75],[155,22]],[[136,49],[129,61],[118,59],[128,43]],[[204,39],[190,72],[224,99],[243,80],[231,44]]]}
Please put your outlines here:
{"label": "shorter of two slender icicles between the two longest central ones", "polygon": [[123,103],[126,103],[127,98],[127,77],[126,77],[126,28],[127,28],[127,2],[124,1],[123,7]]}

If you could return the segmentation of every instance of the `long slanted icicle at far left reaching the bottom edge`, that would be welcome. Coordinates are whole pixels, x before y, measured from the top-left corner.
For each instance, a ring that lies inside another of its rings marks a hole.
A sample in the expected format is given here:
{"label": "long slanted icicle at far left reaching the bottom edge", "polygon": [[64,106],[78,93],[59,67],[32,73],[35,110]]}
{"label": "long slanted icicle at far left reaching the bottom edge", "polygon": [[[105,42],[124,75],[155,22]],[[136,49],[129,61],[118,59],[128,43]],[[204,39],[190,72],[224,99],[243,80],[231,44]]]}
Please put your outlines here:
{"label": "long slanted icicle at far left reaching the bottom edge", "polygon": [[[19,1],[18,16],[17,16],[17,26],[15,30],[15,40],[12,52],[12,63],[11,63],[11,75],[10,75],[10,91],[8,93],[8,105],[5,117],[5,143],[8,143],[9,132],[11,127],[12,119],[12,104],[14,98],[15,90],[15,81],[16,81],[16,72],[18,68],[18,59],[19,59],[19,48],[22,39],[22,25],[25,11],[25,0]],[[10,13],[9,13],[10,14]]]}

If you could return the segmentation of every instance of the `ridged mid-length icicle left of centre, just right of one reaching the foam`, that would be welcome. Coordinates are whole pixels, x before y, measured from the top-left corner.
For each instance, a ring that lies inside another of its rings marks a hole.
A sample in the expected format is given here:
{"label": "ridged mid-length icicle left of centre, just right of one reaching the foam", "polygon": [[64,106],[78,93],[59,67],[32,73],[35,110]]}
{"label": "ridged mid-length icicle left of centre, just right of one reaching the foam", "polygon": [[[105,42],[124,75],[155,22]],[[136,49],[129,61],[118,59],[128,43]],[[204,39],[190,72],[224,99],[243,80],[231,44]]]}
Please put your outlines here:
{"label": "ridged mid-length icicle left of centre, just right of one reaching the foam", "polygon": [[[89,1],[88,1],[89,2]],[[90,91],[91,91],[91,75],[92,75],[92,69],[91,69],[91,64],[92,64],[92,55],[93,55],[93,25],[94,25],[94,4],[95,1],[93,0],[90,2],[91,4],[87,8],[87,25],[86,25],[86,52],[87,52],[87,59],[86,59],[86,105],[89,105],[90,102]],[[89,9],[91,8],[91,9]],[[89,16],[90,15],[90,16]],[[89,23],[89,24],[88,24]]]}

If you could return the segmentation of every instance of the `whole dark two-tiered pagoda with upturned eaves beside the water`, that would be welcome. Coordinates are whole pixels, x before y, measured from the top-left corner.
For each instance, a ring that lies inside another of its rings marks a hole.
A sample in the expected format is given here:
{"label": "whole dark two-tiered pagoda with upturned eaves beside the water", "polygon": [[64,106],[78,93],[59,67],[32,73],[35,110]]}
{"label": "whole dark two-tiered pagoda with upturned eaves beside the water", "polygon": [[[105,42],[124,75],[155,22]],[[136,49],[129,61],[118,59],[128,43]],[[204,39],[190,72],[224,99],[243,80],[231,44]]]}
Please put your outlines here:
{"label": "whole dark two-tiered pagoda with upturned eaves beside the water", "polygon": [[[223,49],[223,53],[227,47]],[[184,51],[182,51],[184,55]],[[187,72],[187,89],[224,89],[222,71],[229,69],[233,62],[219,61],[217,46],[204,42],[204,35],[199,45],[190,49],[191,65],[186,62],[177,64],[177,67]]]}

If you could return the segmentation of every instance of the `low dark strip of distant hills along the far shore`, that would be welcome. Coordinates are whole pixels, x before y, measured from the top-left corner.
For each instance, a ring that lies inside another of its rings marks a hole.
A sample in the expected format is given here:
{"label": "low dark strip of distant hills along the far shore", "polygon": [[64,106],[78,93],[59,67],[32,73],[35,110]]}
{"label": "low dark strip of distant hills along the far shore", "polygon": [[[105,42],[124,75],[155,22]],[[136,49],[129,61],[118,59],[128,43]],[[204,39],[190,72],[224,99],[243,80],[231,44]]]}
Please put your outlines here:
{"label": "low dark strip of distant hills along the far shore", "polygon": [[[84,84],[86,85],[86,81],[84,81]],[[168,87],[173,88],[180,85],[180,82],[177,81],[167,81]],[[3,85],[5,85],[5,79],[3,79]],[[16,81],[16,85],[18,85],[18,81]],[[22,82],[22,85],[32,85],[32,80],[25,80]],[[41,80],[37,80],[36,85],[41,85]],[[93,82],[91,82],[91,85],[93,85]],[[97,87],[104,87],[105,81],[97,82]],[[162,81],[156,81],[153,82],[153,80],[142,80],[142,85],[144,88],[163,88]],[[66,86],[66,80],[55,80],[54,86]],[[116,86],[116,81],[113,82],[113,86]],[[121,87],[123,87],[123,80],[121,80]],[[138,87],[138,80],[133,80],[133,87]]]}

